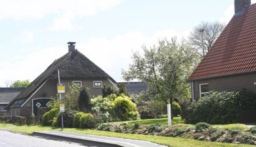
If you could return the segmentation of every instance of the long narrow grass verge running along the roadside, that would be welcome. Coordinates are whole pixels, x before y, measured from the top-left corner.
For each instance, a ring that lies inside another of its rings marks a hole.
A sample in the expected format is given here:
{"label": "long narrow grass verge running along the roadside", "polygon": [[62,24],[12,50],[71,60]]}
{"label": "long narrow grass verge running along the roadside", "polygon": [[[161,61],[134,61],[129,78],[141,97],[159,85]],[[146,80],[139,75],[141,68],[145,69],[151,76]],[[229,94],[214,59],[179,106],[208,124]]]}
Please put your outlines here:
{"label": "long narrow grass verge running along the roadside", "polygon": [[[25,134],[32,134],[35,131],[49,131],[49,130],[61,130],[60,128],[51,128],[51,127],[43,127],[43,126],[15,126],[13,124],[0,124],[0,128],[5,130],[11,130],[15,132],[21,132]],[[105,132],[98,130],[84,130],[84,129],[75,129],[75,128],[64,128],[65,132],[76,132],[80,134],[94,134],[101,136],[111,136],[111,137],[122,137],[136,140],[146,140],[149,142],[155,142],[157,144],[164,144],[166,146],[251,146],[246,144],[225,144],[219,142],[202,142],[198,140],[190,140],[184,138],[171,138],[171,137],[163,137],[163,136],[146,136],[140,134],[121,134],[115,132]]]}

